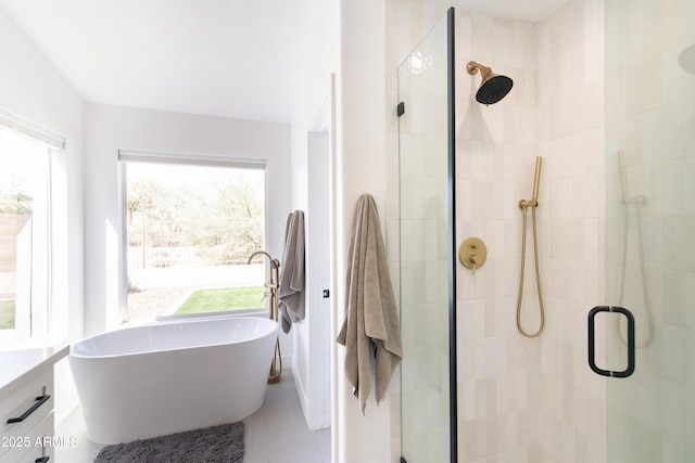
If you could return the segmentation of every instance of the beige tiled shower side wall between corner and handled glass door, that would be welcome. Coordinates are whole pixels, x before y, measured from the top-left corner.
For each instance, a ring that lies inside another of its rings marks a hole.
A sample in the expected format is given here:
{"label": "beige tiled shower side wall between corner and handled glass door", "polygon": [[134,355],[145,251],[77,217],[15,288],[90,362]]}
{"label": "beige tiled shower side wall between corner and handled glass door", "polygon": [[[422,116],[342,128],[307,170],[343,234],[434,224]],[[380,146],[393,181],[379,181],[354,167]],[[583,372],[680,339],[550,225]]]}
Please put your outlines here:
{"label": "beige tiled shower side wall between corner and handled glass door", "polygon": [[606,461],[605,383],[585,360],[587,311],[605,304],[603,17],[603,1],[571,0],[538,27],[544,463]]}

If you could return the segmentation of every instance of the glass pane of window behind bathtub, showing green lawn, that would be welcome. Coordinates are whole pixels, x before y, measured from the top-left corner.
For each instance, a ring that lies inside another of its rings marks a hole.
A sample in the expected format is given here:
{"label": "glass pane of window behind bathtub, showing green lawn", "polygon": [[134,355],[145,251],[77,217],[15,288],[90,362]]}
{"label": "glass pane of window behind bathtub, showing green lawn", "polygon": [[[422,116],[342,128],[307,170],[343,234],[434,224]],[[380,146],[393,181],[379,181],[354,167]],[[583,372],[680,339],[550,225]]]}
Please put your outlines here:
{"label": "glass pane of window behind bathtub, showing green lawn", "polygon": [[265,170],[125,166],[127,318],[263,308]]}

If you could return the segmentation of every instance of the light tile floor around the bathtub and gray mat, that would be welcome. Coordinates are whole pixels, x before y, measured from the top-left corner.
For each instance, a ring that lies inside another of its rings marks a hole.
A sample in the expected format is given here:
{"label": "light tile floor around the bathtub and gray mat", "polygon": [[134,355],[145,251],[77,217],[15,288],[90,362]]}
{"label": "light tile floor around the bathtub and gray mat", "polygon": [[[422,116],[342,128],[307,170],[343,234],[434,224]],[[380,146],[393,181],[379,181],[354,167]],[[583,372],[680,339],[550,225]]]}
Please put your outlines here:
{"label": "light tile floor around the bathtub and gray mat", "polygon": [[[307,429],[288,369],[282,381],[268,385],[263,407],[243,421],[244,463],[330,463],[330,429]],[[76,447],[58,450],[58,463],[91,463],[102,447],[87,439],[79,409],[59,424],[55,435],[78,439]]]}

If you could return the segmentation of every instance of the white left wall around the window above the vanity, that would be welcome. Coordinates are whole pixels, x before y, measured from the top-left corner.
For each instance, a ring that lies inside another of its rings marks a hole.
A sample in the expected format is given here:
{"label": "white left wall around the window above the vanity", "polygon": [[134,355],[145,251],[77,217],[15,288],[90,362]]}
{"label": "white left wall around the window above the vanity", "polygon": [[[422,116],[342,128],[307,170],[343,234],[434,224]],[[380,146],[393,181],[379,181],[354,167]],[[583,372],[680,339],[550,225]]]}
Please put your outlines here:
{"label": "white left wall around the window above the vanity", "polygon": [[[66,139],[67,300],[54,317],[77,339],[84,332],[83,101],[1,10],[0,56],[0,107]],[[76,403],[66,362],[56,368],[55,389],[58,423]]]}

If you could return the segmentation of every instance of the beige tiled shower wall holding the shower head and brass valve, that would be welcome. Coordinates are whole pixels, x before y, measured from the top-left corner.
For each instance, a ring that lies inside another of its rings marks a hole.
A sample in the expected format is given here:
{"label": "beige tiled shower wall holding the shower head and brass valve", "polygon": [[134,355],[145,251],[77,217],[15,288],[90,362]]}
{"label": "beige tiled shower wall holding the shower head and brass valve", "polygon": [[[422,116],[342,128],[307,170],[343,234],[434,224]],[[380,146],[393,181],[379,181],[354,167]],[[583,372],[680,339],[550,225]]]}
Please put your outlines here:
{"label": "beige tiled shower wall holding the shower head and brass valve", "polygon": [[[515,321],[518,202],[531,196],[538,153],[535,25],[458,11],[456,37],[458,241],[477,236],[488,246],[475,275],[458,268],[459,461],[538,462],[541,342],[520,336]],[[500,103],[475,101],[480,76],[466,72],[471,60],[514,79]],[[525,312],[535,313],[528,283]],[[535,325],[538,318],[525,322]]]}

